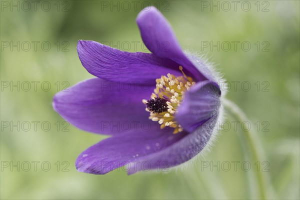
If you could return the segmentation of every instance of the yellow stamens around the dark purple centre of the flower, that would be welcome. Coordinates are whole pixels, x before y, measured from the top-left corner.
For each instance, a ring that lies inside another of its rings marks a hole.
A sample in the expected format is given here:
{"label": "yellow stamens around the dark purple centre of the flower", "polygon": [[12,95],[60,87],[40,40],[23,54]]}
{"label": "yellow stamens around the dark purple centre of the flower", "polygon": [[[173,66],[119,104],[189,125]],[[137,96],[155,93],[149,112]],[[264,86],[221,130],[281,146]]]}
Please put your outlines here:
{"label": "yellow stamens around the dark purple centre of the flower", "polygon": [[146,111],[150,112],[149,119],[158,121],[161,129],[165,126],[173,127],[173,133],[183,130],[175,121],[174,114],[183,99],[184,92],[195,84],[191,77],[185,75],[182,66],[179,66],[179,70],[182,72],[182,76],[168,73],[167,76],[162,75],[157,78],[156,88],[151,94],[151,98],[142,100],[146,105]]}

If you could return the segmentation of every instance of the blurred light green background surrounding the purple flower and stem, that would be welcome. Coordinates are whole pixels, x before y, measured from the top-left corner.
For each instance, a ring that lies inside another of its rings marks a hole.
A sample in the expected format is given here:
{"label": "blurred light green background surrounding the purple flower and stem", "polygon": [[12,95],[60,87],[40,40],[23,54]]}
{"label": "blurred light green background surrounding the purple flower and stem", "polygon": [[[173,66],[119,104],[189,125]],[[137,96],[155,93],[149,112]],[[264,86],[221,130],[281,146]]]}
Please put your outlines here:
{"label": "blurred light green background surrounding the purple flower and stem", "polygon": [[[268,186],[274,190],[270,198],[300,198],[298,0],[238,1],[236,10],[231,1],[227,1],[229,10],[224,1],[137,0],[136,7],[132,1],[38,1],[36,7],[26,2],[1,0],[1,199],[257,198],[253,178],[257,165],[245,156],[238,136],[243,134],[240,125],[237,130],[231,127],[220,131],[205,156],[184,170],[133,175],[123,170],[106,175],[76,171],[77,155],[105,136],[72,125],[66,127],[69,131],[62,131],[65,124],[52,109],[52,96],[68,84],[93,77],[78,59],[78,39],[144,51],[135,18],[149,4],[162,11],[184,49],[204,54],[215,63],[231,83],[226,97],[236,102],[253,123],[260,124],[251,129],[258,127],[265,153],[265,160],[259,160],[259,170],[267,169],[263,173],[270,178]],[[220,49],[211,49],[211,41],[219,41]],[[222,46],[224,41],[227,42]],[[236,49],[232,41],[239,42]],[[246,44],[241,47],[244,41],[251,44],[247,51]],[[209,46],[205,47],[207,42]],[[227,51],[228,42],[232,45]],[[19,91],[17,86],[11,89],[11,84],[18,81]],[[31,84],[28,91],[26,81]],[[39,81],[36,91],[32,81]],[[232,81],[240,81],[236,89]],[[250,83],[249,91],[247,85],[241,87],[243,81]],[[235,119],[227,114],[226,120]],[[18,121],[20,130],[13,127]],[[32,121],[39,121],[36,130]],[[44,129],[43,121],[48,121]],[[48,123],[51,127],[46,131]],[[226,165],[221,165],[226,161],[231,163],[228,171],[223,170]],[[239,161],[236,170],[232,161]],[[242,170],[243,161],[251,164],[248,171]],[[31,168],[25,171],[28,162]],[[204,162],[209,167],[204,168]],[[11,164],[16,166],[10,168]],[[220,169],[211,170],[211,164]]]}

